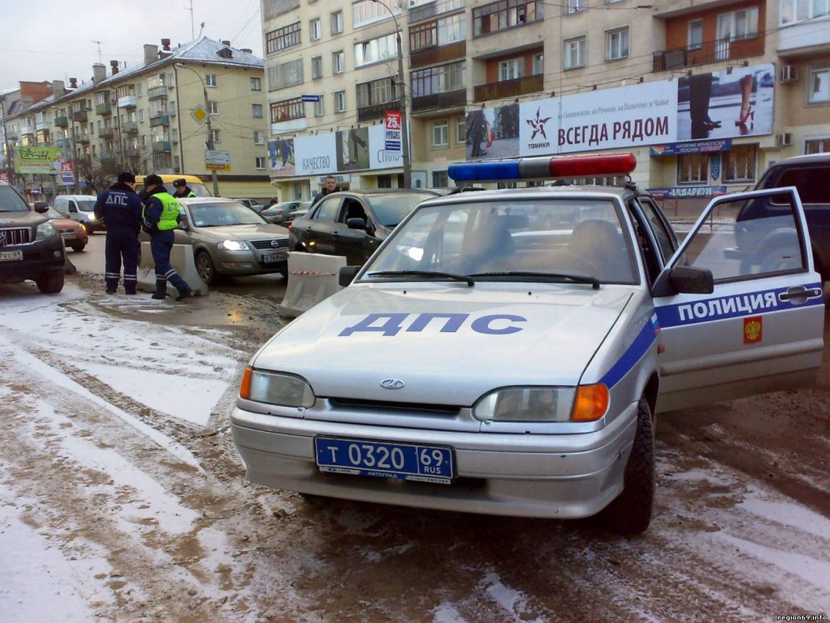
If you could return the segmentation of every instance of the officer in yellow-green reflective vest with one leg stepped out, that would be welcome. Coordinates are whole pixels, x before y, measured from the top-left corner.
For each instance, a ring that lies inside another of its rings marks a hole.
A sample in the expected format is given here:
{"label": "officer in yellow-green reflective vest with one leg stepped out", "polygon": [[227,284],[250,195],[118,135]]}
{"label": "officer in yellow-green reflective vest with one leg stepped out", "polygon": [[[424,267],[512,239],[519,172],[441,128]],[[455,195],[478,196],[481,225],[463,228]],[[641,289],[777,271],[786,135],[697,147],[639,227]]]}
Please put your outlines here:
{"label": "officer in yellow-green reflective vest with one leg stepped out", "polygon": [[147,199],[144,202],[144,231],[150,235],[150,251],[153,253],[156,272],[156,291],[153,298],[167,296],[167,282],[178,290],[177,301],[189,297],[193,290],[188,282],[170,266],[170,251],[173,249],[173,229],[178,225],[178,201],[164,188],[159,175],[144,178]]}

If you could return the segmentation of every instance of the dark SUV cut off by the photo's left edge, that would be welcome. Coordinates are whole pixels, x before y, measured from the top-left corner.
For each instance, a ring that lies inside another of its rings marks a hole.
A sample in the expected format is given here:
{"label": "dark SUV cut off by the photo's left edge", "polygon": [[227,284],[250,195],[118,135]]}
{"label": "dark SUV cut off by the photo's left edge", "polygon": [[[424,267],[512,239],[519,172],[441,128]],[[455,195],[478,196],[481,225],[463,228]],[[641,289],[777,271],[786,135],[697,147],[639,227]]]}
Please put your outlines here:
{"label": "dark SUV cut off by the photo's left edge", "polygon": [[49,206],[29,207],[17,190],[0,182],[0,283],[31,279],[44,294],[63,289],[63,238],[41,216]]}

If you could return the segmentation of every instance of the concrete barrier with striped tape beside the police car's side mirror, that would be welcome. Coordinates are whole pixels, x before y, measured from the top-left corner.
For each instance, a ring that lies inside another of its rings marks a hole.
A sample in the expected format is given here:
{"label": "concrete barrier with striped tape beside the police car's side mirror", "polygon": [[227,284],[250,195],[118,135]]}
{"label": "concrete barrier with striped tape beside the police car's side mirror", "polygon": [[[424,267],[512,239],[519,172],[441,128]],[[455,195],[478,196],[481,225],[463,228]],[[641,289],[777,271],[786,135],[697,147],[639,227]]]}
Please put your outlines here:
{"label": "concrete barrier with striped tape beside the police car's side mirror", "polygon": [[288,254],[288,287],[280,305],[280,316],[300,316],[340,290],[338,275],[346,265],[342,255]]}

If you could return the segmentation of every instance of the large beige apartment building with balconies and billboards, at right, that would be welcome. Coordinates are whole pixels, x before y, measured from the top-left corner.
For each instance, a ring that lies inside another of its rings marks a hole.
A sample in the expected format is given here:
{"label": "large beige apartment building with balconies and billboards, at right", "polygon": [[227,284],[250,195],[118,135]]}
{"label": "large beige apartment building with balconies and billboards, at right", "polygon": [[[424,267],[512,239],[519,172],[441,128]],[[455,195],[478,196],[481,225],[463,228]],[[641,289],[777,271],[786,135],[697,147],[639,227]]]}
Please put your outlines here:
{"label": "large beige apartment building with balconies and billboards, at right", "polygon": [[263,0],[270,174],[286,198],[325,174],[401,183],[381,131],[398,110],[398,27],[415,186],[452,184],[463,159],[632,151],[638,184],[706,198],[830,150],[830,0],[385,5]]}

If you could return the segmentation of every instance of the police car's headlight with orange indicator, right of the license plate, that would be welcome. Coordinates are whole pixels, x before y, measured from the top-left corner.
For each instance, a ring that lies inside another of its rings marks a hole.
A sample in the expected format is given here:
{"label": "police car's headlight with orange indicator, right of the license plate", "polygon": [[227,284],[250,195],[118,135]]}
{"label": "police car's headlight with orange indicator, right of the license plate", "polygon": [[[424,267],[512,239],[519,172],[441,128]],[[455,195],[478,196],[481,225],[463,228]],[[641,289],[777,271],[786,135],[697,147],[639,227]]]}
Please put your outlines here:
{"label": "police car's headlight with orange indicator, right of the license plate", "polygon": [[608,387],[505,387],[484,395],[472,415],[491,422],[593,422],[608,410]]}

